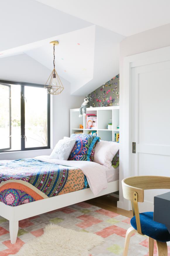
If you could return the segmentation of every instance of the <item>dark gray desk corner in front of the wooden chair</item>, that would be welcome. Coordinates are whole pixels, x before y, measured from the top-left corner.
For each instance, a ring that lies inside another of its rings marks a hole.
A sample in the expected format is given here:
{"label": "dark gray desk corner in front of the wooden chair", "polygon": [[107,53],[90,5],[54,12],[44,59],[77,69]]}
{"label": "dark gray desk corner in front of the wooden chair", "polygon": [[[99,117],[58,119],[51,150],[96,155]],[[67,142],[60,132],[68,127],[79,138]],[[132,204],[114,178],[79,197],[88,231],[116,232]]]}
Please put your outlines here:
{"label": "dark gray desk corner in front of the wooden chair", "polygon": [[165,224],[170,233],[170,192],[154,196],[154,221]]}

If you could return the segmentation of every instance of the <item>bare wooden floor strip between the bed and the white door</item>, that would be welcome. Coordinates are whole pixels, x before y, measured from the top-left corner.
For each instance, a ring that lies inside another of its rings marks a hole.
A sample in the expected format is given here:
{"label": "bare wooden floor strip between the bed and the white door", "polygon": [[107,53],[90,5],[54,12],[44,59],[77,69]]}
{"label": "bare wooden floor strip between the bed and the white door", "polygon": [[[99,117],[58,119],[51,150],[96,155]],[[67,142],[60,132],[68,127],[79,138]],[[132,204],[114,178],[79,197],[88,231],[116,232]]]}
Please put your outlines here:
{"label": "bare wooden floor strip between the bed and the white door", "polygon": [[132,218],[133,217],[132,211],[127,211],[121,208],[117,208],[117,201],[119,201],[119,198],[104,195],[104,196],[99,196],[97,198],[87,200],[86,202],[92,205],[98,206],[100,208],[112,211],[114,213],[118,213],[123,216]]}

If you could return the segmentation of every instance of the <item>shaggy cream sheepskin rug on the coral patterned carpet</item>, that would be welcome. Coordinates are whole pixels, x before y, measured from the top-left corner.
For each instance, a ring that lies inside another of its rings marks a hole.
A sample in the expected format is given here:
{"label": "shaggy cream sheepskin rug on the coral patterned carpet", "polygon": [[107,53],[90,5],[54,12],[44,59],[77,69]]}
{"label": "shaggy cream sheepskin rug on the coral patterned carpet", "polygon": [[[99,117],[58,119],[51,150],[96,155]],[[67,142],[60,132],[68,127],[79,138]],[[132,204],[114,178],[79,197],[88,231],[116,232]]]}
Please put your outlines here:
{"label": "shaggy cream sheepskin rug on the coral patterned carpet", "polygon": [[[104,239],[87,232],[49,224],[44,234],[23,245],[16,256],[88,256],[88,250],[100,245]],[[12,255],[11,255],[12,256]]]}

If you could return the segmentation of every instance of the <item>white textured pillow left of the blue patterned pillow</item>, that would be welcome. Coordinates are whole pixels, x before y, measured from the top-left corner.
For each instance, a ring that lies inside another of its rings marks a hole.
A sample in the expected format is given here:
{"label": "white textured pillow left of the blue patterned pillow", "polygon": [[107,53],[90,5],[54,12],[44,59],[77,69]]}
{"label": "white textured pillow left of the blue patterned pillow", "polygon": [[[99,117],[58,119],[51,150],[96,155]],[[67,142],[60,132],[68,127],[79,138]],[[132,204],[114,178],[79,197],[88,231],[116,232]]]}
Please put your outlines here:
{"label": "white textured pillow left of the blue patterned pillow", "polygon": [[75,142],[76,139],[71,139],[69,137],[60,139],[49,156],[49,159],[67,160],[75,145]]}

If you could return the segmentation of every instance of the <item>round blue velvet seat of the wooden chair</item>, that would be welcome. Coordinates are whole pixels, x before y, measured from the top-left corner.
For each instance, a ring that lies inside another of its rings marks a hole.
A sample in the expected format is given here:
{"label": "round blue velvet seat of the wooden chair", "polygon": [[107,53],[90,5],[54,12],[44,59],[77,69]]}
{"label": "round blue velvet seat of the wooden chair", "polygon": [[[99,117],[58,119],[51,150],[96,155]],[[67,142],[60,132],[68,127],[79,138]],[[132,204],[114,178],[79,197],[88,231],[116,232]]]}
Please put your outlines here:
{"label": "round blue velvet seat of the wooden chair", "polygon": [[[130,223],[137,230],[135,216],[130,220]],[[143,235],[160,242],[170,241],[170,234],[166,226],[153,220],[153,212],[140,213],[140,225]]]}

